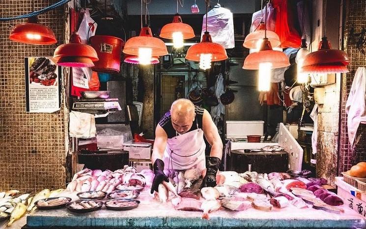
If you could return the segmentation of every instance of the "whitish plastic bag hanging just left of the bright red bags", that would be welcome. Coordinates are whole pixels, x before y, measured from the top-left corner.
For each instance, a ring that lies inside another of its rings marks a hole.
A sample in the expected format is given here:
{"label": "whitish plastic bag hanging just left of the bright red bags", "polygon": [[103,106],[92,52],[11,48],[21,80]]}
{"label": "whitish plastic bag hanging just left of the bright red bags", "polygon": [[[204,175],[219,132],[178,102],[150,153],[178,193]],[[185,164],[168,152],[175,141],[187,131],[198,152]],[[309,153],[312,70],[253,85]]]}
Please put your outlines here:
{"label": "whitish plastic bag hanging just left of the bright red bags", "polygon": [[[255,31],[255,29],[259,26],[260,21],[263,21],[267,25],[267,30],[276,31],[276,10],[273,8],[271,3],[267,4],[267,20],[265,20],[266,15],[266,7],[264,6],[262,10],[256,11],[252,16],[252,26],[251,31]],[[263,19],[262,19],[263,16]],[[263,37],[264,38],[264,37]]]}

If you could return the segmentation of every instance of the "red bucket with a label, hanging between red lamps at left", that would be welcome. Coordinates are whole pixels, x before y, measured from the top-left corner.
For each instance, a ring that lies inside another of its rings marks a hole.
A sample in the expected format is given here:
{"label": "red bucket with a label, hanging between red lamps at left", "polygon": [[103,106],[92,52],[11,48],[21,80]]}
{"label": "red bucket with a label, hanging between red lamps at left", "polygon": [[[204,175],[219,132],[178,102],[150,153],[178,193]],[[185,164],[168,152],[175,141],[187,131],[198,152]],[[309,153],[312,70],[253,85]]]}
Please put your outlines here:
{"label": "red bucket with a label, hanging between red lamps at left", "polygon": [[89,38],[90,45],[98,54],[99,61],[91,69],[97,72],[115,74],[121,65],[122,39],[115,36],[95,35]]}

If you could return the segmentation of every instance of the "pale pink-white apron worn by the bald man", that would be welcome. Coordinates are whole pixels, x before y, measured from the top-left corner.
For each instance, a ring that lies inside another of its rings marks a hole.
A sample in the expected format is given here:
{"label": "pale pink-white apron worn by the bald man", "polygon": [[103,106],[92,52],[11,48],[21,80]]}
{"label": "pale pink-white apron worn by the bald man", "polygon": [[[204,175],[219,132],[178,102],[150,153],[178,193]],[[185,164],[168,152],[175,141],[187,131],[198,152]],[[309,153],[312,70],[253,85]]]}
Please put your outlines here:
{"label": "pale pink-white apron worn by the bald man", "polygon": [[205,148],[203,131],[198,128],[175,137],[168,138],[164,152],[164,169],[187,170],[191,168],[206,168]]}

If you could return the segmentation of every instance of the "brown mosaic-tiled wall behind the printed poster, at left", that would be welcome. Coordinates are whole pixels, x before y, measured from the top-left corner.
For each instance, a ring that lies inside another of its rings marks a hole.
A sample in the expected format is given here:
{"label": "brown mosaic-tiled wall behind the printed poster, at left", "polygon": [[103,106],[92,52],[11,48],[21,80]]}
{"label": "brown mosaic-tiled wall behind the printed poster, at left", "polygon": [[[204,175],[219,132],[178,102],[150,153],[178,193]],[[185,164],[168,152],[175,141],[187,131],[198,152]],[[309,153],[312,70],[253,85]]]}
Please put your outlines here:
{"label": "brown mosaic-tiled wall behind the printed poster, at left", "polygon": [[[1,0],[0,17],[27,14],[33,0]],[[35,10],[58,0],[34,0]],[[64,8],[39,16],[58,40],[55,45],[10,41],[11,27],[26,20],[0,22],[0,190],[35,191],[65,184],[65,113],[26,113],[25,57],[53,56],[64,38]],[[66,125],[66,126],[65,126]]]}

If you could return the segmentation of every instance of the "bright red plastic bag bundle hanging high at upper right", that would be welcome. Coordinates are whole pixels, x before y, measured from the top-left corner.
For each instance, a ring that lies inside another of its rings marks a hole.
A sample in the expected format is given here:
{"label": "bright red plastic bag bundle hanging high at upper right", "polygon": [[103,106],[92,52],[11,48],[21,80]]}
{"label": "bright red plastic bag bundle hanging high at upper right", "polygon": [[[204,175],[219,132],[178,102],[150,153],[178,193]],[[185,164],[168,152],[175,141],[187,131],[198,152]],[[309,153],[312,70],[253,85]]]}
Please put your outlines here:
{"label": "bright red plastic bag bundle hanging high at upper right", "polygon": [[287,0],[272,0],[276,10],[276,33],[280,36],[281,48],[299,48],[301,36],[295,29],[294,11],[290,10]]}

